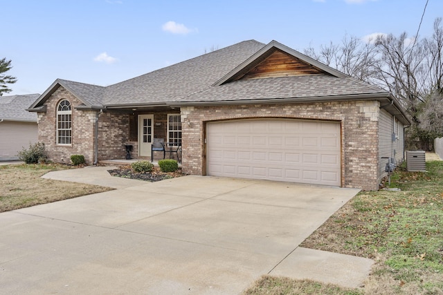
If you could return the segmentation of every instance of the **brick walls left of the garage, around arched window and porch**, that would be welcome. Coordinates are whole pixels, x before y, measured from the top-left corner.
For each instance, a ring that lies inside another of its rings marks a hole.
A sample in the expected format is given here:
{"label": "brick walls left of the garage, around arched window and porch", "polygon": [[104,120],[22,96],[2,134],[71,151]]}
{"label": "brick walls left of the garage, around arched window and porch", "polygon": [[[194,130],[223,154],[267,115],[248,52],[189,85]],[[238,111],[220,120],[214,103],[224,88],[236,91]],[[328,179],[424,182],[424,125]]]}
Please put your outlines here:
{"label": "brick walls left of the garage, around arched window and porch", "polygon": [[[72,106],[72,144],[57,144],[57,106],[63,99],[68,99]],[[151,160],[151,157],[138,157],[138,141],[129,140],[129,114],[118,111],[84,111],[77,110],[78,100],[65,88],[58,88],[49,99],[44,102],[46,112],[38,113],[39,142],[44,142],[48,159],[57,163],[69,164],[71,155],[84,155],[87,164],[96,161],[96,116],[98,115],[98,161],[110,159],[125,159],[125,144],[133,146],[132,158]],[[168,114],[174,111],[154,113],[154,137],[168,138]],[[143,113],[140,113],[143,114]],[[138,114],[135,114],[138,115]],[[155,123],[160,123],[156,125]],[[136,128],[136,126],[135,126]],[[163,153],[155,153],[155,160],[163,159]]]}

